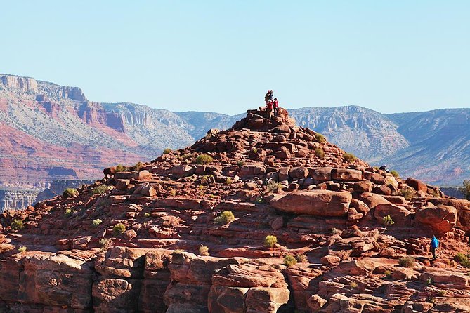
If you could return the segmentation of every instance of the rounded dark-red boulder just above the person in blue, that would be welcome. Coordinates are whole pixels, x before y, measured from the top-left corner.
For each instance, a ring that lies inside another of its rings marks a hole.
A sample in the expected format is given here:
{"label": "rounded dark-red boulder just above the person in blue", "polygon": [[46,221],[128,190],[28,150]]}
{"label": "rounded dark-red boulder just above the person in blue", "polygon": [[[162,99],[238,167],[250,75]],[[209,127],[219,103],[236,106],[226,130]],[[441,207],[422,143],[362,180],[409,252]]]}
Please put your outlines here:
{"label": "rounded dark-red boulder just above the person in blue", "polygon": [[457,223],[457,209],[442,204],[433,208],[422,208],[416,211],[414,222],[427,225],[433,232],[443,234],[449,232]]}

